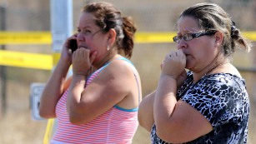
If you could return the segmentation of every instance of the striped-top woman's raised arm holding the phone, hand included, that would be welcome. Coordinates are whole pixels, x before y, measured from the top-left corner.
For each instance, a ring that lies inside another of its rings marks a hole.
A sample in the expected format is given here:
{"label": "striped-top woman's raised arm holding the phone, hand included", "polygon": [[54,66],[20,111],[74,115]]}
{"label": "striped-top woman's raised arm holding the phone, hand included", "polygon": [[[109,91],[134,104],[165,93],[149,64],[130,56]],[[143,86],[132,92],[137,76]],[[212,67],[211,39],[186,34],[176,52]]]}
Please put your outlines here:
{"label": "striped-top woman's raised arm holding the phone, hand included", "polygon": [[71,53],[69,52],[69,40],[75,38],[69,37],[63,46],[63,51],[61,57],[58,61],[57,66],[54,68],[52,76],[49,78],[46,86],[44,87],[40,106],[39,114],[44,118],[54,118],[55,107],[58,102],[59,97],[68,88],[70,79],[66,81],[66,76],[68,73],[68,68],[71,65]]}

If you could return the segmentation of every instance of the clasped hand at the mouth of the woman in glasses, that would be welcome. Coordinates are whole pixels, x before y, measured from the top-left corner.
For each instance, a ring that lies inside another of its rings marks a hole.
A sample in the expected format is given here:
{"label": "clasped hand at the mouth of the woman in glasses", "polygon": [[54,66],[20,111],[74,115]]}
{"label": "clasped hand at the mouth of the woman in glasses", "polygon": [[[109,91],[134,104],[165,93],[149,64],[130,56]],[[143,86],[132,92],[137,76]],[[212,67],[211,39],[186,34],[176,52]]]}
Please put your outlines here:
{"label": "clasped hand at the mouth of the woman in glasses", "polygon": [[186,56],[182,50],[170,52],[166,55],[163,61],[162,72],[178,80],[179,78],[184,77],[185,66]]}

